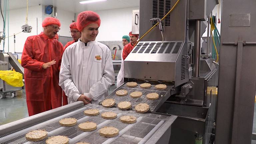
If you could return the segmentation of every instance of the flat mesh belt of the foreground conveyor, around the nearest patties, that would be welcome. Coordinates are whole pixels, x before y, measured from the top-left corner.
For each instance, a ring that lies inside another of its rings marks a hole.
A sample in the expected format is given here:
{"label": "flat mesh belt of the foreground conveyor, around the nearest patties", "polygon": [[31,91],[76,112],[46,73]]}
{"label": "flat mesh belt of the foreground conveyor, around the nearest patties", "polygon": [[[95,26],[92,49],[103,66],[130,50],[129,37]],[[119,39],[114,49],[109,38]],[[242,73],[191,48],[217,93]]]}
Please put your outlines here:
{"label": "flat mesh belt of the foreground conveyor, around the nearest patties", "polygon": [[[97,116],[86,116],[84,110],[96,108],[100,111]],[[117,113],[117,118],[113,120],[106,120],[101,117],[101,113],[112,111]],[[134,124],[124,124],[119,118],[123,115],[133,115],[137,118]],[[59,120],[62,118],[73,117],[77,119],[77,124],[71,127],[62,127],[59,125]],[[1,144],[45,144],[48,137],[63,135],[69,138],[69,144],[77,142],[88,142],[91,144],[143,144],[169,119],[169,116],[152,114],[152,113],[136,113],[135,111],[122,111],[118,108],[104,108],[100,105],[89,104],[69,113],[52,118],[50,120],[42,121],[39,124],[30,125],[19,131],[13,131],[0,136]],[[176,119],[176,118],[175,118]],[[174,120],[175,120],[174,119]],[[91,132],[83,132],[78,128],[78,124],[86,121],[97,123],[97,129]],[[119,135],[112,138],[105,138],[100,136],[99,129],[105,126],[113,126],[119,129]],[[38,141],[30,142],[25,138],[26,133],[31,130],[44,129],[48,132],[47,138]]]}

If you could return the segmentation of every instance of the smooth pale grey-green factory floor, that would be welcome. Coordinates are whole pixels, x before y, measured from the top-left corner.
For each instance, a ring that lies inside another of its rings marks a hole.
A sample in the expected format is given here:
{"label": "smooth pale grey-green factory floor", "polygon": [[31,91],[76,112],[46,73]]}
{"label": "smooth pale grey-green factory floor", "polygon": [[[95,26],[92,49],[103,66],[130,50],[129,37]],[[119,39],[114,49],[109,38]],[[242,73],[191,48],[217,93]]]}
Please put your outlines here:
{"label": "smooth pale grey-green factory floor", "polygon": [[[116,86],[109,88],[109,94],[114,91]],[[0,99],[0,125],[16,121],[28,117],[28,109],[26,103],[26,92],[21,90],[17,92],[14,98],[4,97]],[[256,103],[254,105],[253,133],[256,133]],[[252,140],[251,144],[256,144],[256,140]]]}

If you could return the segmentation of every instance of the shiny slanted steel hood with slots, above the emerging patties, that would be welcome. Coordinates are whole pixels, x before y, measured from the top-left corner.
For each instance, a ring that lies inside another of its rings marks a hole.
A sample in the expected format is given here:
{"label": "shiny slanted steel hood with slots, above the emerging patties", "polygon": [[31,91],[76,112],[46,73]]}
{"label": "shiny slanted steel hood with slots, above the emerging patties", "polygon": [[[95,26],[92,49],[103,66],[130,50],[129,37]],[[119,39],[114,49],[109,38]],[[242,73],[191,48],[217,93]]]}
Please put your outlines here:
{"label": "shiny slanted steel hood with slots, above the emerging patties", "polygon": [[189,66],[184,47],[184,41],[139,42],[124,60],[124,77],[185,83]]}

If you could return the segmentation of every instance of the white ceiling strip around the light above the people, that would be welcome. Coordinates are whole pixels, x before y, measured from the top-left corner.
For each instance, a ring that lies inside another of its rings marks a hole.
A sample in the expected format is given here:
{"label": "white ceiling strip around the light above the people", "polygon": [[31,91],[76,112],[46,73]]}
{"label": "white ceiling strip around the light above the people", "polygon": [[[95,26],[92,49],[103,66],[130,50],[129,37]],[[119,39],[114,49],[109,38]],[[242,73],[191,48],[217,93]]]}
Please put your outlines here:
{"label": "white ceiling strip around the light above the people", "polygon": [[[58,9],[80,13],[85,10],[101,11],[110,9],[120,9],[128,7],[139,7],[139,0],[107,0],[89,4],[80,4],[83,0],[28,0],[28,5],[54,5]],[[9,0],[10,9],[24,8],[27,6],[27,0]]]}

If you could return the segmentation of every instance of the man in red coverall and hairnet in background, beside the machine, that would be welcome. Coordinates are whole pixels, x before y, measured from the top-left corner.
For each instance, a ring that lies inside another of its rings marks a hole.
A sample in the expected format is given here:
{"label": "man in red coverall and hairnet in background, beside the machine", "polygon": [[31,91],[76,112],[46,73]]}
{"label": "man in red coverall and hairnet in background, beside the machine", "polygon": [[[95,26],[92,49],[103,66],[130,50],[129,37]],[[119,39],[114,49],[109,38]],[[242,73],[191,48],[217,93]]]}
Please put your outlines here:
{"label": "man in red coverall and hairnet in background, beside the machine", "polygon": [[132,34],[132,32],[129,33],[130,36],[130,43],[124,46],[123,49],[123,60],[129,55],[129,53],[134,48],[135,43],[137,42],[139,38],[139,34]]}

